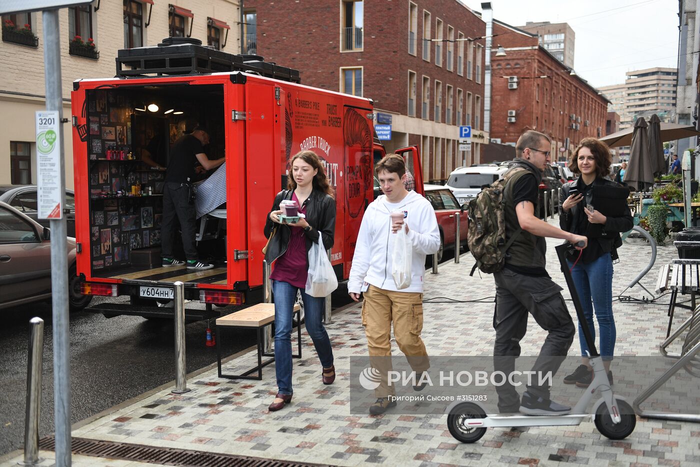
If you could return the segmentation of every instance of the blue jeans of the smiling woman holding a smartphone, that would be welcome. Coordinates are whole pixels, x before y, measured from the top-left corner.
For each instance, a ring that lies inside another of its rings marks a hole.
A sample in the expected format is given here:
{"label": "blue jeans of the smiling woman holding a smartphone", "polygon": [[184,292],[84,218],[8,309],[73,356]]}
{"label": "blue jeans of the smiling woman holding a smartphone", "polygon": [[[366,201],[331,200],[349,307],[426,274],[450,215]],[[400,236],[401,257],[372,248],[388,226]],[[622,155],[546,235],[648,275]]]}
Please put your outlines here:
{"label": "blue jeans of the smiling woman holding a smartphone", "polygon": [[[567,261],[569,268],[573,262]],[[583,313],[593,340],[596,339],[596,328],[593,324],[593,310],[596,310],[598,327],[601,328],[601,343],[599,352],[603,360],[612,360],[615,355],[615,318],[612,316],[612,258],[610,253],[589,264],[578,262],[571,271],[576,292],[581,300]],[[578,340],[581,344],[581,355],[587,356],[588,345],[583,337],[581,323],[578,323]]]}

